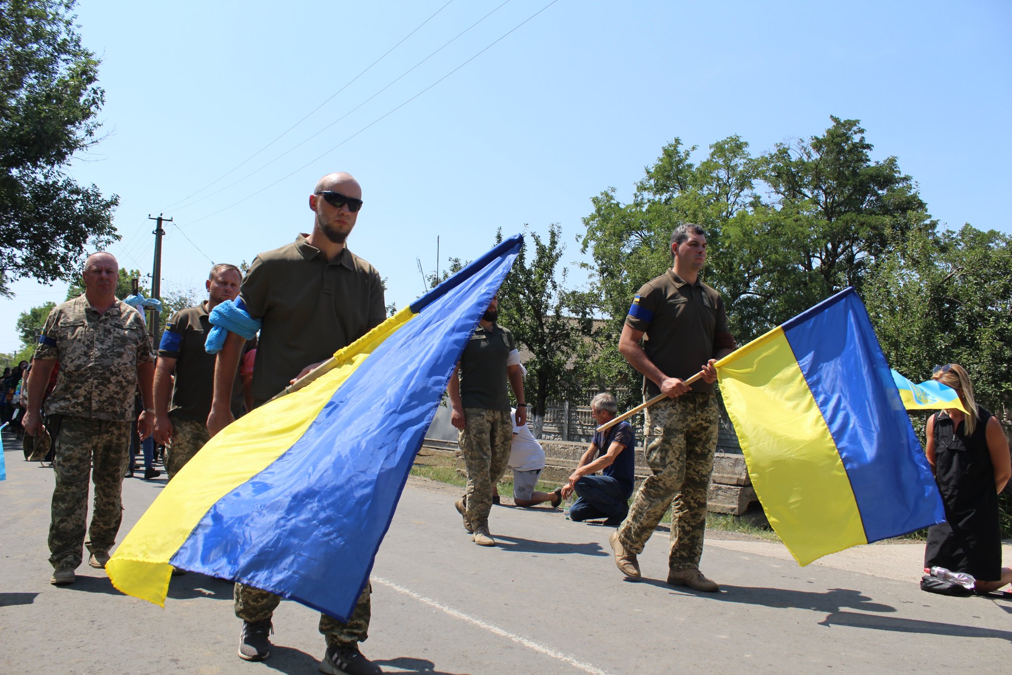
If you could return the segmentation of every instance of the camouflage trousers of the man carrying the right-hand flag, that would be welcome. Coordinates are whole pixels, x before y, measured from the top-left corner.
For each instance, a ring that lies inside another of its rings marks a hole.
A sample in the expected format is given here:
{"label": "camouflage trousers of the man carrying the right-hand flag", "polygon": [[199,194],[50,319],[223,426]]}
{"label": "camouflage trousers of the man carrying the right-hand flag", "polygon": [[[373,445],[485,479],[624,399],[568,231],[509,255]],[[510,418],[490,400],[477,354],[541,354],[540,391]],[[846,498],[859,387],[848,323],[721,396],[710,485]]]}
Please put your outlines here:
{"label": "camouflage trousers of the man carrying the right-hand flag", "polygon": [[715,394],[685,394],[647,409],[647,429],[654,436],[647,446],[647,463],[653,476],[640,486],[618,528],[618,539],[630,553],[643,553],[672,505],[668,566],[699,566],[719,415]]}

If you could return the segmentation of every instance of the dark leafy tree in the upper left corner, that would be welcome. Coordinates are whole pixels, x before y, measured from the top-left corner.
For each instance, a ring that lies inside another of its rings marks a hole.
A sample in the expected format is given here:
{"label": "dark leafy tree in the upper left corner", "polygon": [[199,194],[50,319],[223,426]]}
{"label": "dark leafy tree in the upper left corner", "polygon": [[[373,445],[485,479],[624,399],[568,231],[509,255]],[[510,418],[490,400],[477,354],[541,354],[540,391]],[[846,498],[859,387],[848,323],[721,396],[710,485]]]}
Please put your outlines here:
{"label": "dark leafy tree in the upper left corner", "polygon": [[11,280],[70,278],[86,246],[118,239],[118,197],[64,173],[97,143],[104,92],[73,0],[0,0],[0,292]]}

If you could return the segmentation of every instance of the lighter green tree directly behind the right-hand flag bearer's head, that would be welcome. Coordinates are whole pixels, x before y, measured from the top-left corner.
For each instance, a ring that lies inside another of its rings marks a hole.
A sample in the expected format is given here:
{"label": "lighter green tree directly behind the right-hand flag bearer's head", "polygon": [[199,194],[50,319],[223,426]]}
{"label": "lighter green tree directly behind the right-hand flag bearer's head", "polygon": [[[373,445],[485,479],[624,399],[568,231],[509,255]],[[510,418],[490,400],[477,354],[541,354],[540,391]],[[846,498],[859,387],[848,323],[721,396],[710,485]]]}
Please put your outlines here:
{"label": "lighter green tree directly behind the right-hand flag bearer's head", "polygon": [[737,136],[709,146],[698,166],[690,159],[695,150],[675,139],[645,169],[631,201],[621,203],[608,188],[591,198],[593,213],[583,221],[582,251],[594,260],[584,265],[591,273],[584,303],[603,317],[593,332],[591,378],[613,391],[621,407],[638,402],[642,375],[618,353],[618,336],[636,291],[671,266],[675,227],[692,222],[706,229],[710,263],[702,277],[707,283],[726,296],[748,293],[744,270],[736,269],[737,258],[723,255],[722,243],[749,232],[747,223],[726,231],[751,217],[759,162]]}

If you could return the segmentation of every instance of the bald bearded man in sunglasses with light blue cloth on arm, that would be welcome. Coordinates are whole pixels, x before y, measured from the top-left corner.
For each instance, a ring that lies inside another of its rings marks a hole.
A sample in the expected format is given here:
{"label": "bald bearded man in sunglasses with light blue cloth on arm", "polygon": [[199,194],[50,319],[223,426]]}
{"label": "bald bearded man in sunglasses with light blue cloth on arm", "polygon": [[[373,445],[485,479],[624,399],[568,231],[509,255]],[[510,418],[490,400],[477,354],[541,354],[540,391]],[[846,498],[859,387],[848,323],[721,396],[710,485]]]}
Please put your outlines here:
{"label": "bald bearded man in sunglasses with light blue cloth on arm", "polygon": [[[309,198],[313,232],[291,244],[261,253],[250,266],[240,301],[263,322],[253,364],[253,405],[261,406],[290,382],[330,358],[386,319],[383,280],[345,240],[362,207],[362,189],[350,174],[321,178]],[[229,333],[215,366],[215,396],[207,431],[214,436],[232,421],[230,401],[245,340]],[[368,637],[369,584],[347,623],[321,614],[327,654],[324,673],[380,673],[358,651]],[[280,598],[236,584],[236,616],[243,619],[239,656],[262,661],[270,655],[271,617]]]}

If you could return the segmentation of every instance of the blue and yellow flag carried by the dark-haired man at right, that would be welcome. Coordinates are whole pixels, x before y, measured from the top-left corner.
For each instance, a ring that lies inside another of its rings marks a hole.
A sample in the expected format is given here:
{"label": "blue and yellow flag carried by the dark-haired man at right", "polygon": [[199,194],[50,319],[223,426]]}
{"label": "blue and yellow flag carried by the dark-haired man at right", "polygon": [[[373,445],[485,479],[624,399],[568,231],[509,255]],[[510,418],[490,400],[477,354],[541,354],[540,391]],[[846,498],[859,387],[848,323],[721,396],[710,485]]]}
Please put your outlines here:
{"label": "blue and yellow flag carried by the dark-haired man at right", "polygon": [[853,288],[756,338],[716,369],[752,484],[800,565],[945,518]]}

